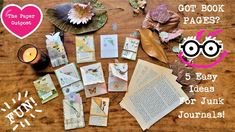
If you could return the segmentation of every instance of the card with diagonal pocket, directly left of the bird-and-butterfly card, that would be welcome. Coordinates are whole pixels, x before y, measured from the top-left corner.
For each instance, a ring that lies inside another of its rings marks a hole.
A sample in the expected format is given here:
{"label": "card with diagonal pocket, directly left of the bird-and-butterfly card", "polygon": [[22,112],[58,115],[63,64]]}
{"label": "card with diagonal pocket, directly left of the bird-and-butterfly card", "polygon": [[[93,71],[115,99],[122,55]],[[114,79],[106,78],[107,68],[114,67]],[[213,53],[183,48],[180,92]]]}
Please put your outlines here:
{"label": "card with diagonal pocket, directly left of the bird-and-butterfly card", "polygon": [[76,93],[83,89],[81,77],[74,63],[68,64],[60,69],[55,70],[55,74],[64,95]]}

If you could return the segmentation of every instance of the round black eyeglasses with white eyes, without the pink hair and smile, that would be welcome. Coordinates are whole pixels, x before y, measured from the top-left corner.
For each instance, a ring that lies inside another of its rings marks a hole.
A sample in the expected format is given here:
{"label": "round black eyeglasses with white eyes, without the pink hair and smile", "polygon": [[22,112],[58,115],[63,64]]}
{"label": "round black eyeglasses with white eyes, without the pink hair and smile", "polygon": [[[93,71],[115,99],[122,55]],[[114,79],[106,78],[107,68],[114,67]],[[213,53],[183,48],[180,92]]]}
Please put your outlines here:
{"label": "round black eyeglasses with white eyes, without the pink hair and smile", "polygon": [[201,53],[206,58],[216,58],[223,50],[221,41],[207,37],[206,40],[200,44],[196,39],[188,39],[183,44],[180,44],[180,50],[183,51],[187,58],[196,58]]}

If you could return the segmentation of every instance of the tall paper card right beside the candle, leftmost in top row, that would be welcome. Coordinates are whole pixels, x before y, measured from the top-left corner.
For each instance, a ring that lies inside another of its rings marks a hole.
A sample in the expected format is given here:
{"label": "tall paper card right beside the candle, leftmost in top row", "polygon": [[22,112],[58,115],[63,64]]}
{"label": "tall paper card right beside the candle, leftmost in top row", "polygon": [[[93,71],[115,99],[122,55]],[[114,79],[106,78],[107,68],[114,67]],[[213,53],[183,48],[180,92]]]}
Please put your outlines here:
{"label": "tall paper card right beside the candle, leftmost in top row", "polygon": [[60,38],[60,32],[46,35],[46,38],[46,48],[51,60],[52,67],[68,64],[68,58]]}

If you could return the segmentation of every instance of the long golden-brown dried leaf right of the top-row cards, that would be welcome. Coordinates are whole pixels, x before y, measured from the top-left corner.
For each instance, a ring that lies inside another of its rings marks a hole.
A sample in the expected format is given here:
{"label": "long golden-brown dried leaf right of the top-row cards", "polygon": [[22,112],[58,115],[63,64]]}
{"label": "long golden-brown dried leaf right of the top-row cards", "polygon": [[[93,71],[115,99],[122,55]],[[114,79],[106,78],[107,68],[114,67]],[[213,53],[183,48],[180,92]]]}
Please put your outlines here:
{"label": "long golden-brown dried leaf right of the top-row cards", "polygon": [[139,29],[141,36],[141,44],[144,51],[151,57],[161,62],[168,63],[166,54],[161,47],[161,43],[156,35],[149,29]]}

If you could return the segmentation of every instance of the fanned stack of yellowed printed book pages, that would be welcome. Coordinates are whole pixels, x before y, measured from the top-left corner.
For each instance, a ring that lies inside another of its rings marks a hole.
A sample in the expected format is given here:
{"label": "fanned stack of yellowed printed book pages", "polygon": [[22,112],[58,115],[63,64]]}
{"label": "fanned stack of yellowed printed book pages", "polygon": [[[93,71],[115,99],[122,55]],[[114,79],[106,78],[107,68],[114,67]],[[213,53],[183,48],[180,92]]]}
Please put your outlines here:
{"label": "fanned stack of yellowed printed book pages", "polygon": [[120,105],[133,115],[143,130],[187,100],[171,70],[138,60],[128,92]]}

